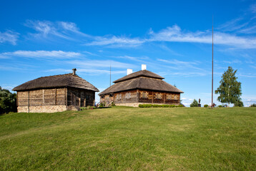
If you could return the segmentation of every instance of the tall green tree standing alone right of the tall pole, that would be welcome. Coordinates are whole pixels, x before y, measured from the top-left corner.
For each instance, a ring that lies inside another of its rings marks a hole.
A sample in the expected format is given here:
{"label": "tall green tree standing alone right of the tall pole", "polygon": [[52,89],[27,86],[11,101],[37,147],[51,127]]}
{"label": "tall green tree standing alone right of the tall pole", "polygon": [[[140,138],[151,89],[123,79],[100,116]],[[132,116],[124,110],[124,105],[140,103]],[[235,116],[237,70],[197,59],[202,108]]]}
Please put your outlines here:
{"label": "tall green tree standing alone right of the tall pole", "polygon": [[229,66],[227,71],[222,74],[220,86],[215,90],[215,94],[220,94],[217,100],[221,103],[228,103],[228,106],[230,106],[230,103],[238,104],[242,102],[240,98],[240,95],[242,95],[241,83],[237,81],[235,73],[237,73],[237,70],[234,71]]}

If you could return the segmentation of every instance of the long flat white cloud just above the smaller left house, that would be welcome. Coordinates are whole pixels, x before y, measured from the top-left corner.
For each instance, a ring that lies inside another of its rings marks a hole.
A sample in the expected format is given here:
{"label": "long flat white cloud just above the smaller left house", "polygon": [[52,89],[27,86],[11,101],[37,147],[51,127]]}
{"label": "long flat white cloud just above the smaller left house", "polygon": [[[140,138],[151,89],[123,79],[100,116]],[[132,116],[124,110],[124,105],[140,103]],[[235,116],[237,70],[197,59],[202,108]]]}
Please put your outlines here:
{"label": "long flat white cloud just above the smaller left house", "polygon": [[25,58],[76,58],[82,56],[81,53],[72,51],[14,51],[0,53],[0,56],[20,56]]}

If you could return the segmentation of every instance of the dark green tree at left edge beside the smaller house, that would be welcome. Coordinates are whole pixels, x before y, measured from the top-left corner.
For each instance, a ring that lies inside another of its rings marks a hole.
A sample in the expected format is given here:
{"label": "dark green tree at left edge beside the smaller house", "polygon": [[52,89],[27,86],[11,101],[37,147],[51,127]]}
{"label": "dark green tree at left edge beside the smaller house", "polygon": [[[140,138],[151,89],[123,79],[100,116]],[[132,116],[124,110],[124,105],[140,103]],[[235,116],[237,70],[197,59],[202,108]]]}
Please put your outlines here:
{"label": "dark green tree at left edge beside the smaller house", "polygon": [[16,112],[16,110],[16,93],[11,93],[0,86],[0,114]]}

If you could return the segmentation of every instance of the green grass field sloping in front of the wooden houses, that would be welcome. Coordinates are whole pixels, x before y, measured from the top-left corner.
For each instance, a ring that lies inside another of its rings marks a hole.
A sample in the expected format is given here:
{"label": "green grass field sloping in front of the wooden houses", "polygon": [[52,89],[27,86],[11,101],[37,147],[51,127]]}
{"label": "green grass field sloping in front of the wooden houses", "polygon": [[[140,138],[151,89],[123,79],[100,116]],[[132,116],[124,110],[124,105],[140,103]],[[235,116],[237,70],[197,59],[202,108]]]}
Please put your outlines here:
{"label": "green grass field sloping in front of the wooden houses", "polygon": [[0,170],[256,170],[256,108],[1,115]]}

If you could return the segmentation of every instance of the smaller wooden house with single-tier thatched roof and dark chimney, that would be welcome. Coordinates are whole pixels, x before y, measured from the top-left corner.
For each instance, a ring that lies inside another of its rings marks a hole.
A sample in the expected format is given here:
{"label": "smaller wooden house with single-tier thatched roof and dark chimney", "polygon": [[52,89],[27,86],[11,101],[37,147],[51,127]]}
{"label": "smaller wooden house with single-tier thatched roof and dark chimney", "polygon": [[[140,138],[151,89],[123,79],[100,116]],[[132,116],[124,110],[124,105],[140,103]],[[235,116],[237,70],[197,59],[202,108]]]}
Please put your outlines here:
{"label": "smaller wooden house with single-tier thatched roof and dark chimney", "polygon": [[53,113],[93,106],[99,90],[77,76],[76,71],[36,78],[15,87],[18,112]]}

